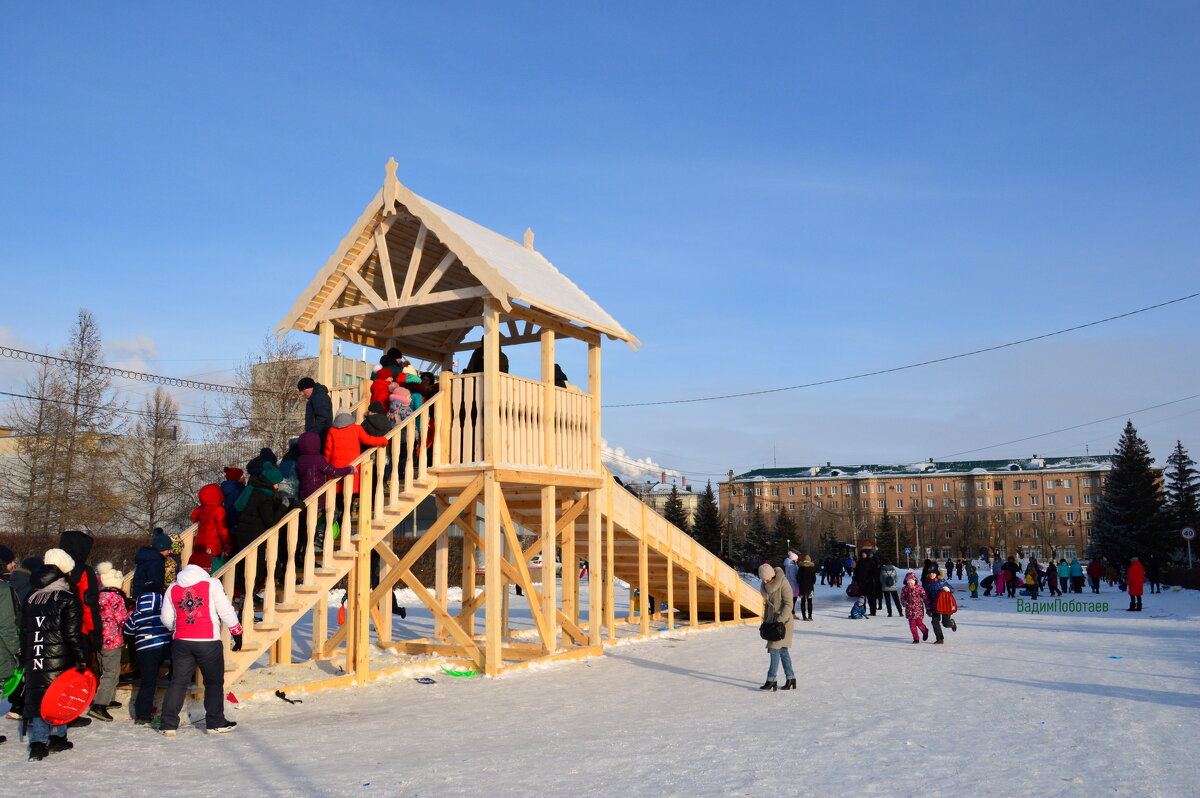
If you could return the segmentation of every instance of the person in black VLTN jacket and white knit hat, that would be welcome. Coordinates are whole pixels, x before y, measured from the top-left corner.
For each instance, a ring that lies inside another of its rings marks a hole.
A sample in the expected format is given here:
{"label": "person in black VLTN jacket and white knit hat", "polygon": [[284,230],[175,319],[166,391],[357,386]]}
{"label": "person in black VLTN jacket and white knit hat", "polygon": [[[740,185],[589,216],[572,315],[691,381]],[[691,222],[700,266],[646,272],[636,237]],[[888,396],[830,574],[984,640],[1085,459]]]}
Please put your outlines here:
{"label": "person in black VLTN jacket and white knit hat", "polygon": [[74,560],[61,548],[46,552],[43,565],[31,581],[32,590],[22,610],[20,650],[25,665],[25,710],[29,726],[29,758],[65,751],[67,727],[42,720],[42,697],[54,679],[68,668],[85,667],[88,648],[83,636],[83,605],[67,581]]}

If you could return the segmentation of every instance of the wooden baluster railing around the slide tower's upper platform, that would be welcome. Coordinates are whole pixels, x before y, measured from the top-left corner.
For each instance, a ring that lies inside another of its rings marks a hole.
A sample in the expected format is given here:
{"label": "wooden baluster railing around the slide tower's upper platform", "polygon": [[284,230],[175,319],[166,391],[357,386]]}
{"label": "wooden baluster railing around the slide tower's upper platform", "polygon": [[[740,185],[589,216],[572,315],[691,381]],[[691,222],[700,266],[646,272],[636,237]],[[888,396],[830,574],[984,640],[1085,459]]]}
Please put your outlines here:
{"label": "wooden baluster railing around the slide tower's upper platform", "polygon": [[[448,374],[443,431],[445,460],[439,466],[484,464],[482,374]],[[550,403],[546,391],[551,391]],[[592,470],[592,397],[580,391],[547,388],[544,383],[500,374],[497,383],[497,466]],[[547,422],[547,414],[551,419]],[[550,440],[547,442],[547,436]],[[547,445],[548,444],[548,445]]]}

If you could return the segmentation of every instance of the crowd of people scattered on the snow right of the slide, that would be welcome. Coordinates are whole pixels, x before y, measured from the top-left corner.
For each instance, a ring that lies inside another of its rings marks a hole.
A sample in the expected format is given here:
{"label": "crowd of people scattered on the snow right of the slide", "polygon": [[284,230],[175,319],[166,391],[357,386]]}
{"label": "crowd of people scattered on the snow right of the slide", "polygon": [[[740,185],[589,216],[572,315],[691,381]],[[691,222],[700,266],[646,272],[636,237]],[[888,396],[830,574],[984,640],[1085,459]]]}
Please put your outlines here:
{"label": "crowd of people scattered on the snow right of the slide", "polygon": [[[1058,563],[1050,560],[1046,564],[1039,563],[1036,557],[1025,562],[1015,557],[994,557],[990,562],[982,563],[966,559],[938,563],[926,559],[919,575],[907,571],[901,578],[895,562],[877,551],[862,550],[857,559],[830,556],[822,560],[820,568],[814,564],[811,556],[790,551],[781,566],[763,562],[757,569],[763,596],[761,630],[770,654],[767,682],[760,690],[796,689],[790,653],[793,622],[812,620],[812,594],[818,580],[821,584],[840,588],[842,578],[851,577],[846,587],[846,594],[853,599],[848,614],[851,620],[874,618],[880,610],[886,610],[888,618],[892,618],[894,606],[895,616],[908,622],[913,643],[929,641],[932,631],[934,643],[944,644],[943,630],[958,631],[959,628],[954,619],[958,601],[954,588],[949,584],[955,575],[960,581],[966,577],[972,599],[980,598],[980,587],[984,588],[985,596],[1027,595],[1037,599],[1039,588],[1049,589],[1051,595],[1062,595],[1063,592],[1084,593],[1085,578],[1092,593],[1099,593],[1100,583],[1106,581],[1110,587],[1117,586],[1128,593],[1127,612],[1141,612],[1144,588],[1148,584],[1151,593],[1160,592],[1160,569],[1154,558],[1148,559],[1144,564],[1138,557],[1133,557],[1126,568],[1100,558],[1090,560],[1085,568],[1074,557],[1069,562],[1061,558]],[[980,565],[991,570],[983,580],[979,578]],[[930,619],[928,626],[925,618]],[[778,680],[780,666],[785,678],[782,688]]]}

